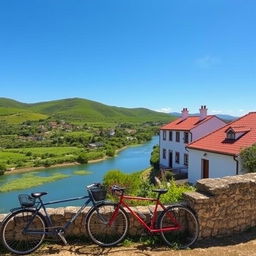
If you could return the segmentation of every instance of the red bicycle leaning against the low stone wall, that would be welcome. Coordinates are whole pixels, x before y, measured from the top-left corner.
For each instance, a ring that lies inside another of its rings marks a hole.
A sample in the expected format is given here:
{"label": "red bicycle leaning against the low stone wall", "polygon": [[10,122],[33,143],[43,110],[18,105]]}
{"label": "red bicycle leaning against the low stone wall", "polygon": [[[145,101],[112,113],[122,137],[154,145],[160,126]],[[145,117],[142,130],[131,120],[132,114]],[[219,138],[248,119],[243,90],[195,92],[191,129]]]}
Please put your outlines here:
{"label": "red bicycle leaning against the low stone wall", "polygon": [[[160,202],[160,196],[165,194],[168,191],[167,189],[154,189],[153,192],[158,193],[156,198],[124,195],[125,188],[117,185],[112,186],[111,191],[119,197],[118,203],[103,203],[96,206],[88,214],[86,224],[87,232],[96,244],[109,247],[121,243],[125,239],[129,229],[129,218],[125,209],[149,233],[160,233],[168,246],[184,249],[196,242],[199,233],[199,224],[195,214],[187,206],[182,204],[165,207]],[[126,202],[127,200],[155,202],[149,224],[143,220],[139,213],[131,209]],[[158,214],[159,206],[162,208],[160,214]],[[99,218],[99,214],[101,218]],[[91,222],[97,225],[100,232],[91,230]]]}

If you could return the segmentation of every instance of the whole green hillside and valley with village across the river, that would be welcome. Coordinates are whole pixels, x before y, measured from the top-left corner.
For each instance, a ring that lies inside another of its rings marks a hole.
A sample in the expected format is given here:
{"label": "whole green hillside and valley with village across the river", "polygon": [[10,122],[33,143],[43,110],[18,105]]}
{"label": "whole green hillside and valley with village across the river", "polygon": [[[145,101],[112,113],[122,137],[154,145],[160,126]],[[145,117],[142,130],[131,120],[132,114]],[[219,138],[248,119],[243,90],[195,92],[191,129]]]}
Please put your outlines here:
{"label": "whole green hillside and valley with village across the river", "polygon": [[5,169],[113,157],[125,146],[149,141],[172,119],[78,98],[37,104],[0,98],[0,175]]}

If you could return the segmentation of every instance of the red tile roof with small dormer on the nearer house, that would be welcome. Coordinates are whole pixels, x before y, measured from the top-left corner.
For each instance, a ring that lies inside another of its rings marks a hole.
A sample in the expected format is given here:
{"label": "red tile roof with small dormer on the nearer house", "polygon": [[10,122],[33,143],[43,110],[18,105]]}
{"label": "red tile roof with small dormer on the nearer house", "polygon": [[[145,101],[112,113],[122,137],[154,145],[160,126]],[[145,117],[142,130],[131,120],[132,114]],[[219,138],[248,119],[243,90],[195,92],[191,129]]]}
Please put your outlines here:
{"label": "red tile roof with small dormer on the nearer house", "polygon": [[[235,132],[244,132],[244,134],[236,140],[228,140],[226,132],[230,128]],[[241,149],[249,147],[254,143],[256,143],[256,112],[250,112],[219,130],[190,143],[188,148],[239,155]]]}

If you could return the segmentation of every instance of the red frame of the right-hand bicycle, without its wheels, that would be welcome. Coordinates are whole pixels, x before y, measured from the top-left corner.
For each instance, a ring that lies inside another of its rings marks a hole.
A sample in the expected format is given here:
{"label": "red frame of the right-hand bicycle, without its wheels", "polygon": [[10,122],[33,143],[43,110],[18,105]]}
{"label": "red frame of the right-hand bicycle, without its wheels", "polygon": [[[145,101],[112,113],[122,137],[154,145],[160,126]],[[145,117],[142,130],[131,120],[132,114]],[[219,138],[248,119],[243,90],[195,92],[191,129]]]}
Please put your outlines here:
{"label": "red frame of the right-hand bicycle, without its wheels", "polygon": [[[153,216],[151,217],[150,220],[150,225],[148,225],[134,210],[131,209],[131,207],[125,202],[125,200],[138,200],[138,201],[151,201],[155,202],[155,209],[153,212]],[[109,225],[112,224],[114,221],[115,217],[118,214],[120,205],[123,206],[123,208],[126,208],[132,216],[139,221],[139,223],[144,226],[145,229],[147,229],[151,233],[157,233],[157,232],[166,232],[166,231],[174,231],[174,230],[179,230],[181,229],[181,225],[176,221],[175,217],[172,216],[172,214],[168,214],[169,218],[175,224],[175,226],[171,227],[165,227],[165,228],[155,228],[155,224],[157,221],[157,210],[159,206],[162,208],[162,210],[166,210],[166,207],[160,202],[159,197],[158,198],[144,198],[144,197],[138,197],[138,196],[126,196],[123,193],[120,195],[120,200],[118,202],[118,207],[116,208],[113,216],[111,217],[109,221]]]}

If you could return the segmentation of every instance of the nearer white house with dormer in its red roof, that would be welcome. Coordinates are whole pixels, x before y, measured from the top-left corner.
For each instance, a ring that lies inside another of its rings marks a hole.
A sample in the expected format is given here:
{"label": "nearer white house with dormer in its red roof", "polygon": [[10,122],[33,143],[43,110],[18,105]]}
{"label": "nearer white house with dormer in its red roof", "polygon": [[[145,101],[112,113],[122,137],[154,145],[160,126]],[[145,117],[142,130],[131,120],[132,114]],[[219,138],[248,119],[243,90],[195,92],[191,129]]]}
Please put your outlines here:
{"label": "nearer white house with dormer in its red roof", "polygon": [[256,143],[256,112],[190,143],[188,181],[242,174],[241,149]]}

